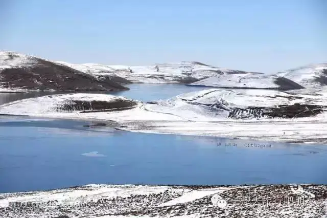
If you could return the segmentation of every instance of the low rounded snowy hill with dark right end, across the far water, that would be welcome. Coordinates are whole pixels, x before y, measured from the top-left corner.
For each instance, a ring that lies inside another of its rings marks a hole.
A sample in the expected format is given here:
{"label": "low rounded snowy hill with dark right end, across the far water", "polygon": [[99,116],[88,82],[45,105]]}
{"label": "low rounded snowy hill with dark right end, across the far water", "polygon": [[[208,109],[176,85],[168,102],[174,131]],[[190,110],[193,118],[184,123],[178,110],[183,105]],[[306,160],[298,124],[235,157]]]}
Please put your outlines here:
{"label": "low rounded snowy hill with dark right end, across the far water", "polygon": [[303,89],[303,86],[284,77],[275,75],[222,74],[215,75],[190,85],[236,89]]}

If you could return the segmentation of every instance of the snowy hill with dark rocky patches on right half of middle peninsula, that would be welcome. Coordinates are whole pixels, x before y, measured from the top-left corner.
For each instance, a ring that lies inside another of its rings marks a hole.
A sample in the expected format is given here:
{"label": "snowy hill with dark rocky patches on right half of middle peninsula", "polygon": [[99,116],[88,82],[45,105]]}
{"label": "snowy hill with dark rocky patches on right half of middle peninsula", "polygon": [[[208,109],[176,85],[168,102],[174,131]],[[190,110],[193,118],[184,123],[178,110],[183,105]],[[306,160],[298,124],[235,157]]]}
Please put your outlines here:
{"label": "snowy hill with dark rocky patches on right half of middle peninsula", "polygon": [[296,95],[273,90],[203,90],[147,104],[147,111],[189,120],[217,118],[293,118],[323,113],[326,93]]}

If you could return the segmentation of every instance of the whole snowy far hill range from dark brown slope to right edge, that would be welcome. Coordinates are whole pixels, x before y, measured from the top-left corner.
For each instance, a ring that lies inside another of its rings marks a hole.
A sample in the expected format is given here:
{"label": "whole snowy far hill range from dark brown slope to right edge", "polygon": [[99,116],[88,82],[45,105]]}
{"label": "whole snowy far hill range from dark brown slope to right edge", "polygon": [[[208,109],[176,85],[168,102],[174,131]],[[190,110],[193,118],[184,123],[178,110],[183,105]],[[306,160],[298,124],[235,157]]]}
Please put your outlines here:
{"label": "whole snowy far hill range from dark brown slope to right edge", "polygon": [[293,90],[327,84],[327,64],[311,64],[275,74],[208,66],[200,62],[171,62],[152,66],[106,66],[58,62],[91,75],[116,75],[134,83],[185,83],[235,89]]}

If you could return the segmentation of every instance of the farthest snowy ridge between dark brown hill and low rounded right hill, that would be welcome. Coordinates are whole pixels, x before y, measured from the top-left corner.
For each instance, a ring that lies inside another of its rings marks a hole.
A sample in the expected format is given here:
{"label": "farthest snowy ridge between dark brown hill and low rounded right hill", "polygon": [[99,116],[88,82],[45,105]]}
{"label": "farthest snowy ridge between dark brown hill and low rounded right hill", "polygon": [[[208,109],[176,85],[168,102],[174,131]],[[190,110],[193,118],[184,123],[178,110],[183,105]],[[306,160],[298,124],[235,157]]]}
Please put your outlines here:
{"label": "farthest snowy ridge between dark brown hill and low rounded right hill", "polygon": [[208,66],[200,62],[169,62],[152,66],[106,66],[97,63],[72,64],[68,67],[91,75],[116,75],[134,83],[192,83],[214,75],[261,74]]}

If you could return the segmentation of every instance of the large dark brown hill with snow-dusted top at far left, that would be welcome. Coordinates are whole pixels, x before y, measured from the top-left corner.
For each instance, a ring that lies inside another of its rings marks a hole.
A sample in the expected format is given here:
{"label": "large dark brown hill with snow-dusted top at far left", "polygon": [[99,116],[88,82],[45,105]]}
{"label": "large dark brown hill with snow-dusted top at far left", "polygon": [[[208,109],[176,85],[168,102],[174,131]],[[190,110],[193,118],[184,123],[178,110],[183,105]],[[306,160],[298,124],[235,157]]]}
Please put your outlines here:
{"label": "large dark brown hill with snow-dusted top at far left", "polygon": [[17,52],[0,51],[0,91],[15,91],[15,89],[43,91],[128,90],[115,79],[95,78],[49,60]]}

